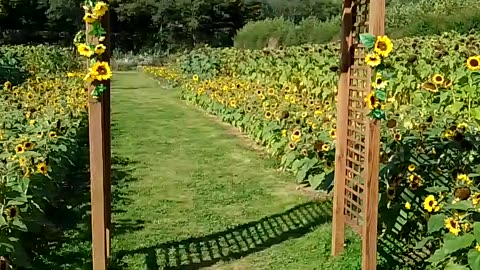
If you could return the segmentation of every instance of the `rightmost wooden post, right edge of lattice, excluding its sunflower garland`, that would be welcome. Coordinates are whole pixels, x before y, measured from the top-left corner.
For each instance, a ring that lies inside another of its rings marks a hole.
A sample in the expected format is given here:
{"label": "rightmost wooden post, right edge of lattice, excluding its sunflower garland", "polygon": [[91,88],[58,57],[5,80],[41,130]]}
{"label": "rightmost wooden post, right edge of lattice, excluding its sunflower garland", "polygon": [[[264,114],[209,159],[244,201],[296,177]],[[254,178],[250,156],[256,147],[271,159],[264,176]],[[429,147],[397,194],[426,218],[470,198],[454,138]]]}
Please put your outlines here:
{"label": "rightmost wooden post, right edge of lattice, excluding its sunflower garland", "polygon": [[[369,32],[375,36],[385,34],[385,0],[370,1]],[[371,72],[370,72],[371,74]],[[377,269],[378,234],[378,181],[380,166],[380,120],[369,120],[365,144],[368,152],[365,156],[365,225],[362,237],[362,269]]]}

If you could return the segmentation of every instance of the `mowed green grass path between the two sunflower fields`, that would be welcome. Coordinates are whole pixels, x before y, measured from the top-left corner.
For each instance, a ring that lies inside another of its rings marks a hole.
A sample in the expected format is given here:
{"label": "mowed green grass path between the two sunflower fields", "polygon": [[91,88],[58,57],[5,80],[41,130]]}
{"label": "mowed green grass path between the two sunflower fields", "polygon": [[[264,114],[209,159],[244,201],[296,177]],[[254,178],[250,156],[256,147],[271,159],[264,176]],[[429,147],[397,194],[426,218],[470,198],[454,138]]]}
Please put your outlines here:
{"label": "mowed green grass path between the two sunflower fields", "polygon": [[329,256],[328,204],[179,95],[115,74],[114,268],[357,269],[356,244]]}

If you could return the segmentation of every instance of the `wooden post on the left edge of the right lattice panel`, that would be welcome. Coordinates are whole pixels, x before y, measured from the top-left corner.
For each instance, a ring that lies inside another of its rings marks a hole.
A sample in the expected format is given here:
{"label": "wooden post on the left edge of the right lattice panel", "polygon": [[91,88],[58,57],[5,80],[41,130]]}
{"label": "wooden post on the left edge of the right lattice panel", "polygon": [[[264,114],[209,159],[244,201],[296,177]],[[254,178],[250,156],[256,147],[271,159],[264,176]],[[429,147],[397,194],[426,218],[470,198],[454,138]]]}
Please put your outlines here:
{"label": "wooden post on the left edge of the right lattice panel", "polygon": [[337,256],[343,251],[345,243],[345,157],[347,149],[348,123],[348,98],[349,98],[349,74],[350,74],[350,44],[352,30],[352,0],[343,3],[343,28],[341,44],[340,81],[338,84],[337,101],[337,142],[335,158],[335,183],[333,198],[333,220],[332,220],[332,255]]}

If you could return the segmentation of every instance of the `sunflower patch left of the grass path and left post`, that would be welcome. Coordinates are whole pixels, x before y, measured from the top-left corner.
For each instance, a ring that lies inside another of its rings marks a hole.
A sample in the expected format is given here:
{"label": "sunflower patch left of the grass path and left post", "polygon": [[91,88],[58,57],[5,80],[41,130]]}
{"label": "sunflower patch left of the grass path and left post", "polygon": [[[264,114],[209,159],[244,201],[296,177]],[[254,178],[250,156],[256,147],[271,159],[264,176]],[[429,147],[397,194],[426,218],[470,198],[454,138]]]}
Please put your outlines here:
{"label": "sunflower patch left of the grass path and left post", "polygon": [[72,51],[0,47],[0,254],[28,266],[84,147],[87,94]]}

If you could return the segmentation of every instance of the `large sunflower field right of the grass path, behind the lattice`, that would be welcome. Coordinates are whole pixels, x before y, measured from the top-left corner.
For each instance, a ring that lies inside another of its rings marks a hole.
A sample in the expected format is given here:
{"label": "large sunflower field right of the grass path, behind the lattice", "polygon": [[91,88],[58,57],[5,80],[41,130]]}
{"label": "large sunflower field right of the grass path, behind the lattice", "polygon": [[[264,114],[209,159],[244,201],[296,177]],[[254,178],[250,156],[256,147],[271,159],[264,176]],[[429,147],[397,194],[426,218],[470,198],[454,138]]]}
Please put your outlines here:
{"label": "large sunflower field right of the grass path, behind the lattice", "polygon": [[[180,85],[187,102],[249,134],[298,183],[330,190],[339,52],[333,43],[205,47],[144,71]],[[385,119],[380,253],[418,269],[479,270],[480,35],[393,40],[388,54],[373,83],[381,98],[365,100]]]}

